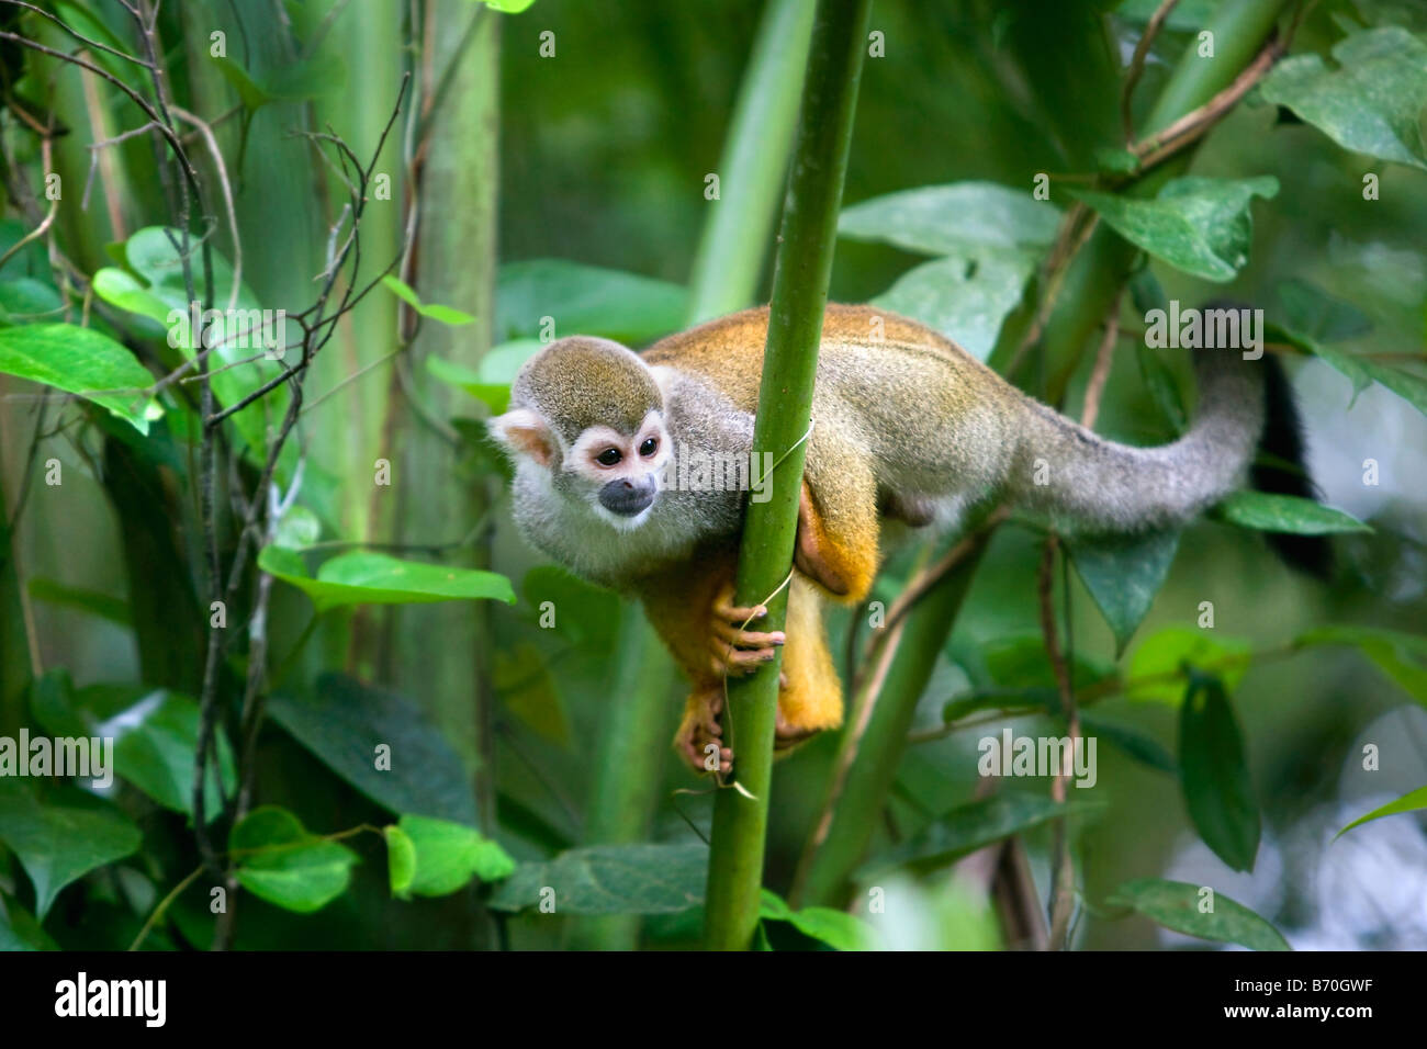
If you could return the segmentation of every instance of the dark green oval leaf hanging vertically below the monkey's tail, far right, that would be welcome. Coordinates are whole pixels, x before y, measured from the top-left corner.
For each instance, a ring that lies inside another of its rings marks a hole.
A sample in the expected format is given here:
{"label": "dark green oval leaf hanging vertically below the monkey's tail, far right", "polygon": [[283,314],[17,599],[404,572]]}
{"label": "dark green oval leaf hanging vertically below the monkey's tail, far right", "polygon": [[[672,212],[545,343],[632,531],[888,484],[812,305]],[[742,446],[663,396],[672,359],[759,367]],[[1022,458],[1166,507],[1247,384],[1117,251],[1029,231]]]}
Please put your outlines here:
{"label": "dark green oval leaf hanging vertically below the monkey's tail, far right", "polygon": [[1179,718],[1184,805],[1204,845],[1234,871],[1259,852],[1259,802],[1239,719],[1217,678],[1196,674]]}

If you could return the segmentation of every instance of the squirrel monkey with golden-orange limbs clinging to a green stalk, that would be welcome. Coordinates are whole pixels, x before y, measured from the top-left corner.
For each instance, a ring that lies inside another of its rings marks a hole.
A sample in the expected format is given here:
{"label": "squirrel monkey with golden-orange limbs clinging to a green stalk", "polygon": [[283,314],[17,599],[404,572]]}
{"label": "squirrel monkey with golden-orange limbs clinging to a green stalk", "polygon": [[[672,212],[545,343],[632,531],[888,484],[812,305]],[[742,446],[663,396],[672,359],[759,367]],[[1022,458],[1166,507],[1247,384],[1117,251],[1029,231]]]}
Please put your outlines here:
{"label": "squirrel monkey with golden-orange limbs clinging to a green stalk", "polygon": [[[786,634],[761,632],[763,609],[732,604],[746,492],[712,471],[698,484],[669,481],[694,475],[679,458],[748,470],[766,335],[768,310],[758,308],[642,354],[562,338],[525,363],[509,410],[489,422],[515,462],[521,532],[578,575],[638,597],[692,679],[675,746],[698,771],[714,765],[709,744],[719,769],[732,766],[721,741],[723,678],[772,661],[776,647],[778,746],[841,724],[822,602],[866,597],[883,520],[955,529],[995,500],[1063,534],[1180,524],[1237,487],[1263,430],[1266,387],[1287,395],[1271,358],[1197,351],[1193,427],[1173,444],[1134,448],[1027,397],[922,324],[829,305]],[[1296,442],[1291,404],[1287,412]]]}

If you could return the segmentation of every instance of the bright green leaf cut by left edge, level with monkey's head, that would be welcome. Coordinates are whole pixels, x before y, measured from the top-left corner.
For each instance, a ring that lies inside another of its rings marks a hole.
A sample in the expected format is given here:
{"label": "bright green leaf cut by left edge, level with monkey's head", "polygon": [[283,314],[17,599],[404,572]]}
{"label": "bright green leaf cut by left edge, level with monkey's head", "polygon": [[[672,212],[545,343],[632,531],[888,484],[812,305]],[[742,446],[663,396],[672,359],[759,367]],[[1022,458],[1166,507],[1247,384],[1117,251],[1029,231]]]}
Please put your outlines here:
{"label": "bright green leaf cut by left edge, level with monkey's head", "polygon": [[108,335],[77,324],[0,328],[0,373],[77,394],[141,434],[163,414],[147,392],[154,385],[148,368]]}

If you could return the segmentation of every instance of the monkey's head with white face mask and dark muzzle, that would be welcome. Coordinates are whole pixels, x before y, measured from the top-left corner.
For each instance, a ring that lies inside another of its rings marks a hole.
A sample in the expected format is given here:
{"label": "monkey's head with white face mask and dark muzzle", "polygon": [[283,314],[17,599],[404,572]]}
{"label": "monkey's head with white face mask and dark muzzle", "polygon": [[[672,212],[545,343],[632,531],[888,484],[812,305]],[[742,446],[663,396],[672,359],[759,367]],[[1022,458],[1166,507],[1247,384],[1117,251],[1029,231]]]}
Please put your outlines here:
{"label": "monkey's head with white face mask and dark muzzle", "polygon": [[621,531],[645,521],[672,454],[649,365],[605,338],[572,335],[531,357],[511,385],[509,411],[489,427],[518,478],[548,482]]}

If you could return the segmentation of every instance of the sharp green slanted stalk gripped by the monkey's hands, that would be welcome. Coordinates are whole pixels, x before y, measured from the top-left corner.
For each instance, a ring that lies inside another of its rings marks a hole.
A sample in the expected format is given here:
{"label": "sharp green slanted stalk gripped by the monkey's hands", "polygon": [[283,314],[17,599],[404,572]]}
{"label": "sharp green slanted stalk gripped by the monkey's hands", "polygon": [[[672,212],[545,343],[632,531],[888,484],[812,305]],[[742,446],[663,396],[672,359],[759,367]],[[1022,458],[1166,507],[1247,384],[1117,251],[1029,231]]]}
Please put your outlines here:
{"label": "sharp green slanted stalk gripped by the monkey's hands", "polygon": [[[739,604],[766,604],[766,629],[781,629],[788,612],[783,582],[792,567],[803,437],[870,6],[870,0],[819,0],[813,23],[753,428],[755,448],[786,458],[772,478],[771,498],[748,508],[736,582]],[[745,949],[758,925],[779,664],[728,682],[723,718],[741,789],[722,789],[714,801],[704,936],[709,949]]]}

